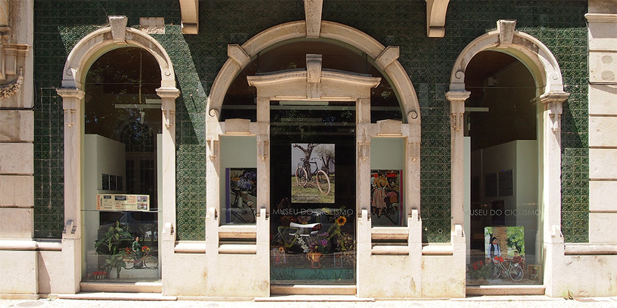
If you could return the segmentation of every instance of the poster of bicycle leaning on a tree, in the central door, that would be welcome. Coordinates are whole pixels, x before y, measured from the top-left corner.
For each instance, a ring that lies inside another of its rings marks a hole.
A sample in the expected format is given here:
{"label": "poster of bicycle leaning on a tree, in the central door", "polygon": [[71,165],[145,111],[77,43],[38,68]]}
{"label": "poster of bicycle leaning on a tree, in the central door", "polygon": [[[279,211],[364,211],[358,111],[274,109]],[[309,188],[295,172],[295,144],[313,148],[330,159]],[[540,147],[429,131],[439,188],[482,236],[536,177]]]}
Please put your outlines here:
{"label": "poster of bicycle leaning on a tree, in the central door", "polygon": [[335,144],[291,144],[291,203],[335,203]]}

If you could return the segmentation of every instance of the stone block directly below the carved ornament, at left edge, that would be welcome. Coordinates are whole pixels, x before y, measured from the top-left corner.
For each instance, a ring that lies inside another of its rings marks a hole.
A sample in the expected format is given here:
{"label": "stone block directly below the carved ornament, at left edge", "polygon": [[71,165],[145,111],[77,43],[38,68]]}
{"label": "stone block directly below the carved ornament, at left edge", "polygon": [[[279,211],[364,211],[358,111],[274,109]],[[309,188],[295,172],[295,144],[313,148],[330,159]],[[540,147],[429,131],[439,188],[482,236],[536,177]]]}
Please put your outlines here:
{"label": "stone block directly below the carved ornament, at left edge", "polygon": [[0,142],[34,140],[32,110],[0,110],[0,123]]}

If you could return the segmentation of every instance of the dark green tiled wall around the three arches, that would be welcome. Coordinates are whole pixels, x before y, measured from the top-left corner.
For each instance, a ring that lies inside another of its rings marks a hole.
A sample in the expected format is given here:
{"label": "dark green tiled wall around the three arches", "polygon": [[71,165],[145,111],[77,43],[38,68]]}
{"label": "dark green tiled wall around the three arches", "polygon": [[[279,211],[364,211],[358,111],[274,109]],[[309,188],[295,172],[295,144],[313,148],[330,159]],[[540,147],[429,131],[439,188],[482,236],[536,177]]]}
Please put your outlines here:
{"label": "dark green tiled wall around the three arches", "polygon": [[[426,37],[425,1],[324,1],[323,19],[364,31],[384,45],[400,46],[400,62],[420,100],[421,202],[424,240],[450,240],[450,120],[445,98],[450,70],[462,49],[516,19],[550,49],[561,66],[570,98],[562,116],[562,220],[568,242],[588,240],[588,106],[586,1],[450,1],[446,37]],[[182,96],[176,101],[178,238],[203,240],[205,216],[205,105],[227,59],[227,44],[304,19],[302,1],[202,1],[199,34],[180,33],[178,1],[35,1],[36,234],[58,238],[62,230],[62,106],[53,88],[75,43],[106,24],[108,15],[165,17],[166,33],[154,34],[167,50]],[[385,18],[387,16],[387,18]]]}

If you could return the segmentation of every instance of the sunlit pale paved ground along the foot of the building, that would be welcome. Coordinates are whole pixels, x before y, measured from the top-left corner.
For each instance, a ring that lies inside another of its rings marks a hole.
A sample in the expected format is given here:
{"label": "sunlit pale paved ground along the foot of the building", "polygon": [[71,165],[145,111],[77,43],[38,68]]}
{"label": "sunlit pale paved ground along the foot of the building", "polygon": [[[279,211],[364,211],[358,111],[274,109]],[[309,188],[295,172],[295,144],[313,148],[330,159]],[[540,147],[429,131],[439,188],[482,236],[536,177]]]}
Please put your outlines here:
{"label": "sunlit pale paved ground along the foot of the building", "polygon": [[[117,308],[117,307],[147,307],[147,308],[327,308],[327,307],[354,307],[354,308],[385,308],[385,307],[421,307],[421,308],[450,308],[450,307],[488,307],[488,308],[617,308],[615,298],[577,298],[565,300],[563,298],[546,298],[544,296],[480,296],[474,298],[452,300],[376,300],[359,302],[315,302],[315,301],[196,301],[196,300],[162,300],[162,301],[130,301],[130,300],[75,300],[75,299],[40,299],[40,300],[1,300],[0,307],[41,307],[41,308]],[[300,298],[295,298],[300,299]]]}

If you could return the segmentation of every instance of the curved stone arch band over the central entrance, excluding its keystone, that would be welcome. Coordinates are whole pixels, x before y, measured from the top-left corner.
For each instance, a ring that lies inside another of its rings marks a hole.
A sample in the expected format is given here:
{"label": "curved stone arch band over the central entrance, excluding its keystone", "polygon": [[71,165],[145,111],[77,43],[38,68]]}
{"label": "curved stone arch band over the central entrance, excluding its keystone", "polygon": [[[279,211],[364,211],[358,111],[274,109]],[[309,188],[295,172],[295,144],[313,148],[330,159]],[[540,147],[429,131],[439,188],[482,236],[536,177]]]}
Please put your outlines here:
{"label": "curved stone arch band over the central entrance, excluding its keystone", "polygon": [[[229,45],[229,58],[219,70],[210,90],[208,114],[216,117],[217,120],[219,119],[227,89],[239,72],[250,63],[252,57],[274,44],[298,38],[306,38],[306,21],[293,21],[276,25],[256,34],[241,46],[238,44]],[[419,125],[420,104],[409,75],[398,62],[398,47],[384,47],[383,44],[362,31],[332,21],[322,21],[319,38],[348,44],[370,56],[394,86],[404,119],[408,123],[418,123]]]}

